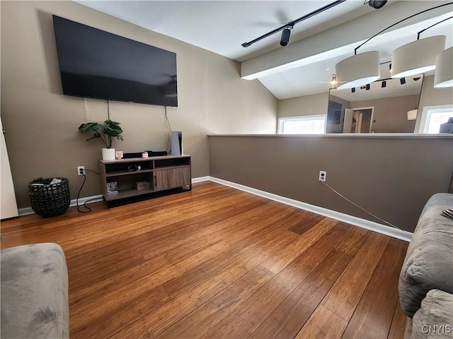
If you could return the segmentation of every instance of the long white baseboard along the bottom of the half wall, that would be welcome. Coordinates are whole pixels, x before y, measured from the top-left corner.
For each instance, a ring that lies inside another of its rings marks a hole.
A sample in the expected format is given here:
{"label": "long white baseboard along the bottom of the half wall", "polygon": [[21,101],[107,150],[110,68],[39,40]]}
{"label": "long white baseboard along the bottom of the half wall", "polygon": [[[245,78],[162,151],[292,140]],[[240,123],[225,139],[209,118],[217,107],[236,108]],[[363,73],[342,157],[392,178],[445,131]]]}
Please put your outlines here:
{"label": "long white baseboard along the bottom of the half wall", "polygon": [[408,234],[401,230],[396,230],[393,227],[386,225],[378,224],[377,222],[372,222],[362,218],[357,218],[353,215],[348,215],[345,213],[337,212],[336,210],[328,210],[327,208],[310,205],[309,203],[303,203],[302,201],[297,201],[290,198],[285,198],[284,196],[278,196],[277,194],[269,193],[266,191],[260,191],[259,189],[253,189],[248,186],[243,186],[241,184],[236,184],[234,182],[228,182],[224,179],[218,179],[215,177],[209,177],[211,182],[216,182],[217,184],[222,184],[225,186],[232,187],[234,189],[239,189],[247,193],[255,194],[256,196],[262,196],[263,198],[268,198],[279,203],[285,203],[295,208],[300,208],[301,210],[308,210],[311,213],[316,213],[323,215],[327,218],[332,218],[338,221],[346,222],[350,225],[357,227],[365,228],[366,230],[374,231],[380,234],[388,235],[389,237],[394,237],[396,239],[403,240],[405,242],[411,242],[412,234]]}

